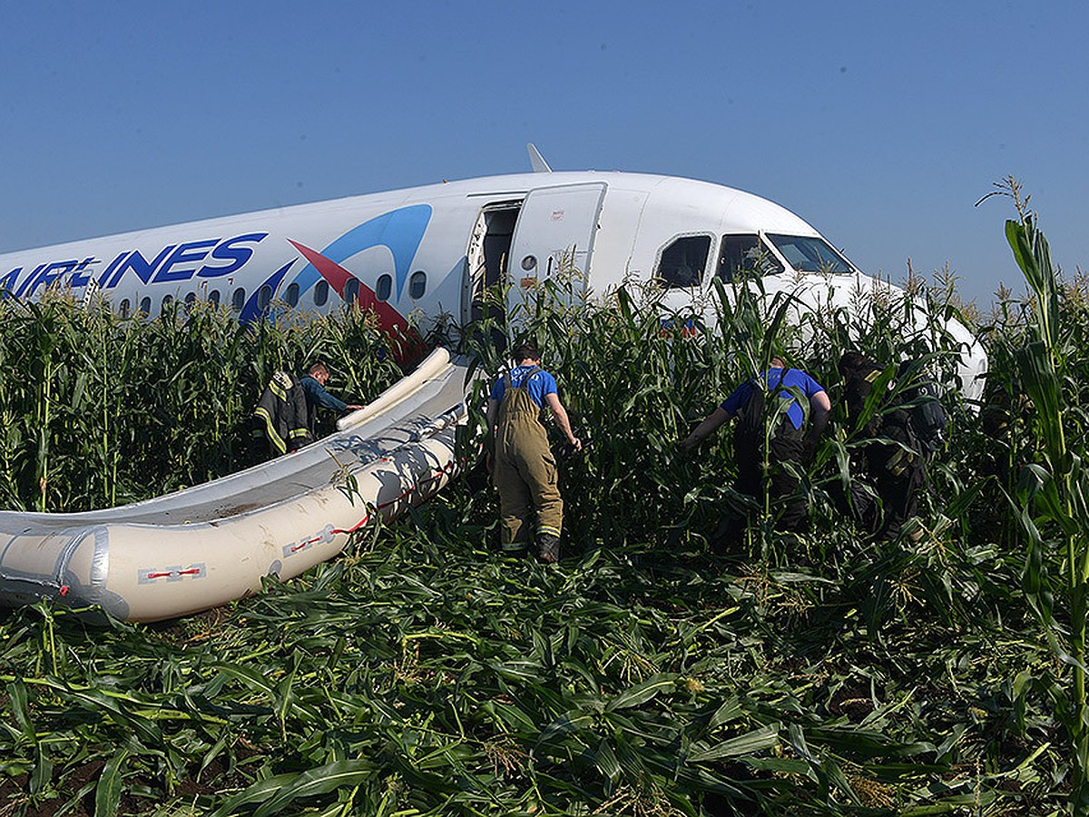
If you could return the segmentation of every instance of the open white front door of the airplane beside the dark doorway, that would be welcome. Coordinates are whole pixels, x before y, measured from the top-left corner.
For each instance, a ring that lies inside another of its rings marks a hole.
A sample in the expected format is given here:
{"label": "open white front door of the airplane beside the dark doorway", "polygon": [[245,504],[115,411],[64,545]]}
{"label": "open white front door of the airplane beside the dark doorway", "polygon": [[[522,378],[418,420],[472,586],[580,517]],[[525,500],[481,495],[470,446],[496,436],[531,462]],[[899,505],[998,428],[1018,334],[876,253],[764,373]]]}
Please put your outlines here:
{"label": "open white front door of the airplane beside the dark doorway", "polygon": [[550,279],[562,281],[561,291],[570,292],[573,300],[585,294],[604,194],[604,182],[529,192],[511,244],[509,315],[516,316],[519,305],[536,308],[534,293]]}

